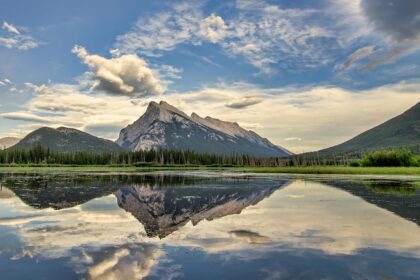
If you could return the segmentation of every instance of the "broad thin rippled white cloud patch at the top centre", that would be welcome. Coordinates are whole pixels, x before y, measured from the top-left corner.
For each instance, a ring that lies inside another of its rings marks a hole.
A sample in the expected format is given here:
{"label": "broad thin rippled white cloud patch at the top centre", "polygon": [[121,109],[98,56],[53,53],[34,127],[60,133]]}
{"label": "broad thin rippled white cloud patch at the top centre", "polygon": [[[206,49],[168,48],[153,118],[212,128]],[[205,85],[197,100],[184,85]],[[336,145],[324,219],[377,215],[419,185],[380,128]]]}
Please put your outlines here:
{"label": "broad thin rippled white cloud patch at the top centre", "polygon": [[[258,2],[238,1],[238,15],[224,19],[205,16],[202,7],[184,3],[172,11],[140,18],[128,33],[119,36],[116,47],[125,53],[156,56],[182,43],[220,45],[230,56],[241,56],[261,72],[272,71],[279,62],[313,67],[328,60],[320,40],[332,34],[322,26],[304,22],[314,10],[281,9]],[[332,44],[332,42],[330,42]],[[294,62],[296,60],[296,62]]]}

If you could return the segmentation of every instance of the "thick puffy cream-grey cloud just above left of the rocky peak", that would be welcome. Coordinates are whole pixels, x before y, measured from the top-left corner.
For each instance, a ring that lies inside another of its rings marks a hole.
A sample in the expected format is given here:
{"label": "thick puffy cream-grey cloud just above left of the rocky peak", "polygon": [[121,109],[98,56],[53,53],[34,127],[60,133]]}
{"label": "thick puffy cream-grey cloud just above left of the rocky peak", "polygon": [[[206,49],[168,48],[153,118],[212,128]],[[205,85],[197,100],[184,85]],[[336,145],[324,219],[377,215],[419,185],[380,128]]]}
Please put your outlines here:
{"label": "thick puffy cream-grey cloud just above left of the rocky peak", "polygon": [[111,94],[149,96],[163,93],[164,88],[146,61],[134,54],[115,58],[91,55],[81,46],[72,50],[95,72],[92,89]]}

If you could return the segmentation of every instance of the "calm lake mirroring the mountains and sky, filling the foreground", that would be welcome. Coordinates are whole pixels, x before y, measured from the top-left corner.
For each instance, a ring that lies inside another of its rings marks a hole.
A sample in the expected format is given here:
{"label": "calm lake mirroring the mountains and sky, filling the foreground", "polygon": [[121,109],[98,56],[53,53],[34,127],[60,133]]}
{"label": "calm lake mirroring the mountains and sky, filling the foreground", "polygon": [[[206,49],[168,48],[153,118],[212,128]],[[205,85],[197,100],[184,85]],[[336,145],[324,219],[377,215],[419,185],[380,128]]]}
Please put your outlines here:
{"label": "calm lake mirroring the mountains and sky, filling the foreground", "polygon": [[420,183],[0,174],[1,279],[420,279]]}

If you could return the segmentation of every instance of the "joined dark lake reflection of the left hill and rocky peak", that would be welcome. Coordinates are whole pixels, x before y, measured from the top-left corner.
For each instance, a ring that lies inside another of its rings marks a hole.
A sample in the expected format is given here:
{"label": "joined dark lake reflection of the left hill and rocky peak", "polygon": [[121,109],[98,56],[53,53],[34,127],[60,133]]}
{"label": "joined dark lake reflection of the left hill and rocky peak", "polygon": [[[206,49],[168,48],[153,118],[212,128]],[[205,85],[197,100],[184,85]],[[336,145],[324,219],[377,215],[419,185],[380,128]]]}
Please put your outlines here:
{"label": "joined dark lake reflection of the left hill and rocky peak", "polygon": [[239,177],[90,175],[6,177],[2,184],[38,209],[70,208],[114,194],[118,205],[143,224],[149,237],[163,238],[189,221],[196,225],[201,220],[240,214],[288,182]]}

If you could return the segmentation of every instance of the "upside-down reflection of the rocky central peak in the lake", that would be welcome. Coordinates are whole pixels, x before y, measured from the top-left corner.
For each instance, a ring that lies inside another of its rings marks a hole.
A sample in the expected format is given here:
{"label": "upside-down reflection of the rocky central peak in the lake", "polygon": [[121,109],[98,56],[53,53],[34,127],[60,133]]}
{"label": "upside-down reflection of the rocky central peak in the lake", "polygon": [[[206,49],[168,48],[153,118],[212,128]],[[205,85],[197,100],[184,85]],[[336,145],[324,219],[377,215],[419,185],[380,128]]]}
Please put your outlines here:
{"label": "upside-down reflection of the rocky central peak in the lake", "polygon": [[118,205],[144,225],[149,237],[164,238],[189,221],[196,225],[202,220],[239,214],[287,182],[253,179],[170,188],[138,185],[121,188],[115,195]]}

